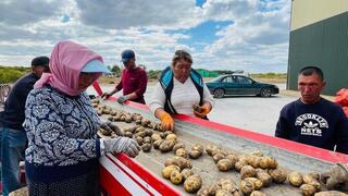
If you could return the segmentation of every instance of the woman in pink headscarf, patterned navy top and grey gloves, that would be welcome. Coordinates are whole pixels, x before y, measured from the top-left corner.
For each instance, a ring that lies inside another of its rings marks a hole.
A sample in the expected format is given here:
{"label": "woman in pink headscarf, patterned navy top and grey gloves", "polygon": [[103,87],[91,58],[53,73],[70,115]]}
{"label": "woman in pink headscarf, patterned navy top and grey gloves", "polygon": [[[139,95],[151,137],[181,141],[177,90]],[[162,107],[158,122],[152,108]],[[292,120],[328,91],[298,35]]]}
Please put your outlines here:
{"label": "woman in pink headscarf, patterned navy top and grey gloves", "polygon": [[84,91],[110,71],[99,54],[73,41],[54,46],[50,70],[26,101],[29,194],[100,195],[98,158],[108,152],[138,155],[134,139],[97,137],[102,123]]}

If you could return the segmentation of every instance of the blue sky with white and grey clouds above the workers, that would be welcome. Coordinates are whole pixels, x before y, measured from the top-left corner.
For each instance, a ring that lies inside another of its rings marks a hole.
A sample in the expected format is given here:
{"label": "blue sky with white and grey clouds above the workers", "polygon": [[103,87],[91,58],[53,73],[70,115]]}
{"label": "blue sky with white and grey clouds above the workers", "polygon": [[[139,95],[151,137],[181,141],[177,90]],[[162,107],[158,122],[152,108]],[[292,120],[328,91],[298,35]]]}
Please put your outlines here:
{"label": "blue sky with white and grey clouds above the workers", "polygon": [[186,49],[194,68],[283,73],[289,21],[289,0],[2,0],[0,64],[27,66],[71,39],[108,65],[133,49],[137,63],[162,70]]}

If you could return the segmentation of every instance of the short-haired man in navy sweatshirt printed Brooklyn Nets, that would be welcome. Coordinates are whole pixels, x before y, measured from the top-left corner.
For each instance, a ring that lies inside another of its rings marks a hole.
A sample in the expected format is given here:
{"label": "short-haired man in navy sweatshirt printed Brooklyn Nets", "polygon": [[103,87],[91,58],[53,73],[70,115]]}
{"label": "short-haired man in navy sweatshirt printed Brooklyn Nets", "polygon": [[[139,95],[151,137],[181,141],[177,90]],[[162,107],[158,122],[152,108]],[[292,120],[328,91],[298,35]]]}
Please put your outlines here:
{"label": "short-haired man in navy sweatshirt printed Brooklyn Nets", "polygon": [[325,85],[319,68],[299,72],[301,97],[282,109],[275,136],[348,154],[348,119],[338,105],[320,96]]}

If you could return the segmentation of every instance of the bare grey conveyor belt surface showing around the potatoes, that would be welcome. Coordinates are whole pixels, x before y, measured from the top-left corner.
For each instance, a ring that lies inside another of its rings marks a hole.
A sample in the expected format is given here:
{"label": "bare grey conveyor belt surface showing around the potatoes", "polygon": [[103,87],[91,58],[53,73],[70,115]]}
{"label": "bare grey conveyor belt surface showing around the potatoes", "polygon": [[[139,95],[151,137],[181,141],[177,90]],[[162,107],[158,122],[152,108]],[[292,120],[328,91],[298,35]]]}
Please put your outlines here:
{"label": "bare grey conveyor belt surface showing around the potatoes", "polygon": [[[103,101],[102,103],[105,103],[117,110],[124,110],[130,113],[140,113],[142,117],[151,121],[158,121],[149,111],[142,109],[129,107],[126,105],[122,106],[112,101]],[[103,115],[103,118],[105,117]],[[117,122],[117,125],[121,127],[127,127],[134,124]],[[264,155],[274,157],[278,161],[281,168],[287,171],[296,170],[303,173],[321,172],[327,170],[333,164],[327,161],[323,161],[303,155],[298,155],[286,149],[277,148],[263,143],[258,143],[251,139],[233,135],[231,133],[207,128],[185,121],[175,120],[175,128],[176,134],[178,136],[178,142],[184,143],[186,145],[186,149],[190,149],[190,147],[195,144],[201,144],[203,146],[207,146],[208,144],[213,144],[222,147],[223,149],[236,152],[250,154],[254,150],[261,150]],[[162,177],[161,171],[164,168],[163,163],[166,158],[173,156],[173,151],[162,154],[159,150],[152,148],[150,152],[140,152],[139,156],[135,159],[140,166],[145,167],[154,175]],[[203,185],[211,185],[222,177],[232,177],[239,185],[240,175],[238,172],[234,170],[228,172],[220,172],[212,158],[207,154],[203,154],[203,156],[199,159],[191,159],[191,162],[192,171],[201,175],[203,180]],[[169,181],[166,182],[171,184]],[[183,185],[171,184],[171,186],[175,187],[183,194],[187,194],[184,191]],[[301,195],[299,188],[293,187],[288,183],[285,183],[283,185],[273,183],[270,187],[261,188],[261,191],[266,195],[276,196]]]}

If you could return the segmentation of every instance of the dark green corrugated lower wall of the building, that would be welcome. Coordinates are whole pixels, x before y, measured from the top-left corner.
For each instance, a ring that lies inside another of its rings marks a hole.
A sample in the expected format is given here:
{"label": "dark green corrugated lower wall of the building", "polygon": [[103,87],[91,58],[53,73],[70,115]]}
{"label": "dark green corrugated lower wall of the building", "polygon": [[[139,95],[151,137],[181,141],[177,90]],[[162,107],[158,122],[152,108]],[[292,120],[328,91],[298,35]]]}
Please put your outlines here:
{"label": "dark green corrugated lower wall of the building", "polygon": [[323,94],[348,88],[348,12],[291,30],[288,63],[288,89],[297,89],[297,73],[307,65],[323,70]]}

